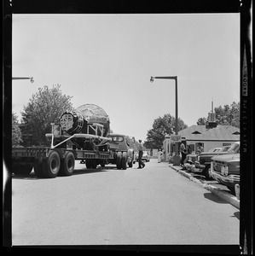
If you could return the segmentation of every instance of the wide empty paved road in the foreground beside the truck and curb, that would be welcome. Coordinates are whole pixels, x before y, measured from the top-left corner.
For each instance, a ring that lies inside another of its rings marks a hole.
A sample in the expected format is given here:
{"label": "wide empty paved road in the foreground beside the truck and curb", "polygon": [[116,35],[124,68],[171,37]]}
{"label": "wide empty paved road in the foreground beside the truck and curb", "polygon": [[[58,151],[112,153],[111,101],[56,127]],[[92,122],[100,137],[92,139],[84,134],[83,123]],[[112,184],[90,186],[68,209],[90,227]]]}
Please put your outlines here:
{"label": "wide empty paved road in the foreground beside the truck and curb", "polygon": [[13,177],[13,245],[239,244],[239,210],[151,160],[143,169]]}

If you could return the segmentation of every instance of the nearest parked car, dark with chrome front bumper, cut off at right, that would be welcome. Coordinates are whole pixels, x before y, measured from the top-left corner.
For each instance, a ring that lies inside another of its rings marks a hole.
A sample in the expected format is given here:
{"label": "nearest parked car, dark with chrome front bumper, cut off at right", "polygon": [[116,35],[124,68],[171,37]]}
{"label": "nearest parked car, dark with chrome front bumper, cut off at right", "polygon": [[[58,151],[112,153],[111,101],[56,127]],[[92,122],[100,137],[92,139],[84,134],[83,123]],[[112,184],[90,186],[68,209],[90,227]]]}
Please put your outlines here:
{"label": "nearest parked car, dark with chrome front bumper, cut off at right", "polygon": [[240,151],[212,157],[209,174],[235,195],[235,184],[240,184]]}

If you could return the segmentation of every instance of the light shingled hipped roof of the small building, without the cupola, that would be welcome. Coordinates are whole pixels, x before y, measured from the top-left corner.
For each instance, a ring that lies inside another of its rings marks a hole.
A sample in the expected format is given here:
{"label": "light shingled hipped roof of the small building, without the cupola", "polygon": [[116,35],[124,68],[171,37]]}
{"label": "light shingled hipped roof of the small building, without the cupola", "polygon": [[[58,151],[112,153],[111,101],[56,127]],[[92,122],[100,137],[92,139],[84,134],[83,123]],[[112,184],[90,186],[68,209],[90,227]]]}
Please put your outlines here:
{"label": "light shingled hipped roof of the small building, without the cupola", "polygon": [[206,125],[192,125],[182,131],[179,135],[186,140],[193,141],[239,141],[240,129],[231,125],[217,125],[214,128],[208,128]]}

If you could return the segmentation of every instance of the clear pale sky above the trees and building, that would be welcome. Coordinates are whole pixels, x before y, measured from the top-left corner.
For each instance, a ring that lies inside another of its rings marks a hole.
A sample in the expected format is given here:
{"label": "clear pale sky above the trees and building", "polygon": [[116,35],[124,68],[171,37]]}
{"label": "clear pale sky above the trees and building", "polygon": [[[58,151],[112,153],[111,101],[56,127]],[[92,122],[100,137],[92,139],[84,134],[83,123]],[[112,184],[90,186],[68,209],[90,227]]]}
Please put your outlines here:
{"label": "clear pale sky above the trees and building", "polygon": [[[154,119],[188,126],[240,102],[240,15],[13,15],[12,111],[39,87],[61,84],[74,108],[103,108],[113,132],[146,140]],[[64,111],[64,110],[63,110]]]}

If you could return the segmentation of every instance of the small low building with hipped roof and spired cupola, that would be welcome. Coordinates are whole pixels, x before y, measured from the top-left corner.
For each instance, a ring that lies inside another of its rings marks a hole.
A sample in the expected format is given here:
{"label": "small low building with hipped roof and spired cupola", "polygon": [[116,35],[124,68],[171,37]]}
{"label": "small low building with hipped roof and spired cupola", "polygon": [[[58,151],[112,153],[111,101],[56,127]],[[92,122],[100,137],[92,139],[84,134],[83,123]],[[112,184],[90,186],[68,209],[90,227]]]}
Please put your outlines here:
{"label": "small low building with hipped roof and spired cupola", "polygon": [[[198,143],[202,144],[204,152],[211,148],[223,147],[231,145],[240,140],[240,129],[232,125],[217,125],[215,121],[215,113],[208,114],[206,125],[192,125],[178,132],[182,137],[182,143],[186,148],[189,145],[191,154],[197,154]],[[177,143],[178,148],[181,143]],[[165,149],[165,160],[168,155],[174,152],[175,145],[171,143],[171,138],[166,137],[163,142]]]}

